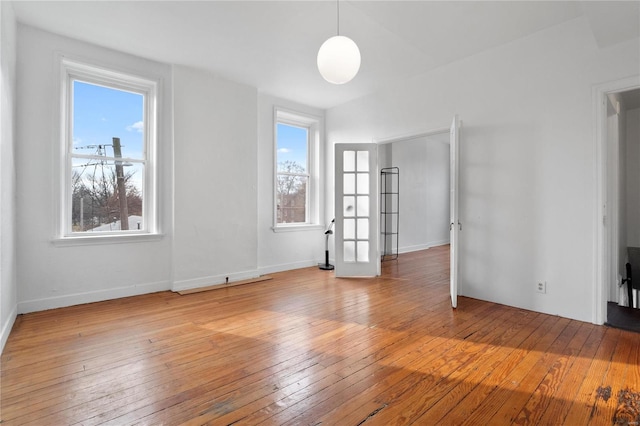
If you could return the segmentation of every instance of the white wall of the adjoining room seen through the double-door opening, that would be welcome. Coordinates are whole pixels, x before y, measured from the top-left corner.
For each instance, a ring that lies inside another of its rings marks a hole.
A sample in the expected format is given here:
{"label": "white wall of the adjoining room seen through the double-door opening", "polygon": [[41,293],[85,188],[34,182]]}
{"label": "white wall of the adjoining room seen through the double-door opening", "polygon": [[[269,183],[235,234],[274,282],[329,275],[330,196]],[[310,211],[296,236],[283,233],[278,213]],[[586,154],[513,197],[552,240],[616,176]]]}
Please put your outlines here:
{"label": "white wall of the adjoining room seen through the double-door opening", "polygon": [[422,137],[392,147],[400,169],[399,252],[448,243],[449,145]]}

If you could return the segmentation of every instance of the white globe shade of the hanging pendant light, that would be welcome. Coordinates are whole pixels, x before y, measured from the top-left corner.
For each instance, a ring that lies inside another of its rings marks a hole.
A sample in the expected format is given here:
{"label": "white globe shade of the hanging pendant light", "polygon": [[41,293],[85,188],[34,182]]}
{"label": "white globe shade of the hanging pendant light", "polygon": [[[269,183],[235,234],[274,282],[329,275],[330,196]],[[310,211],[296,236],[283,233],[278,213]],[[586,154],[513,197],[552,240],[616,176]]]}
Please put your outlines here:
{"label": "white globe shade of the hanging pendant light", "polygon": [[329,83],[344,84],[358,74],[360,49],[345,36],[334,36],[318,50],[318,70]]}

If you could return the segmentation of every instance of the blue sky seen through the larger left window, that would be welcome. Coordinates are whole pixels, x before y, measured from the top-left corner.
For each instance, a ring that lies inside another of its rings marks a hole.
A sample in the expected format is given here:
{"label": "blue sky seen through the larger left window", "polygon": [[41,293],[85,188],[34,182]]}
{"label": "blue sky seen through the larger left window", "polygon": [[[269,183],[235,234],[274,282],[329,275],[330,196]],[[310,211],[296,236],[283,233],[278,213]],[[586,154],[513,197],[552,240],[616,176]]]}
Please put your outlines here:
{"label": "blue sky seen through the larger left window", "polygon": [[[88,145],[111,145],[120,138],[122,156],[142,158],[143,96],[74,81],[73,147],[78,154],[95,154]],[[107,147],[106,155],[113,156]]]}

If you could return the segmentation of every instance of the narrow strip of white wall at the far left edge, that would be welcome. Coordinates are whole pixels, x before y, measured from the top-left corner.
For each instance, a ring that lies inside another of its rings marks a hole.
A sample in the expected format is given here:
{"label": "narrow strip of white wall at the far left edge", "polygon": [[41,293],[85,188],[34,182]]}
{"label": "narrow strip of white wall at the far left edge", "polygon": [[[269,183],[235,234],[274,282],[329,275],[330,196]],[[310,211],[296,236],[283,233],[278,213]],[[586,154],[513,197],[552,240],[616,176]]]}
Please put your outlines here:
{"label": "narrow strip of white wall at the far left edge", "polygon": [[16,286],[16,20],[0,2],[0,353],[17,315]]}

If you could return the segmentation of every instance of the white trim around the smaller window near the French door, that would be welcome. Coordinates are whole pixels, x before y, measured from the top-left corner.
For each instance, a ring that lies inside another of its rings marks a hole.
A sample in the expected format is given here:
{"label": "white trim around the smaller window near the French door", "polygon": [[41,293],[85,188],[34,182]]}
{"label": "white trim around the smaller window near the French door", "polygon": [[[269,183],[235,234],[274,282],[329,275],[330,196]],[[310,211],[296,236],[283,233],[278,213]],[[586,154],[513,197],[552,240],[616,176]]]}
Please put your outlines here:
{"label": "white trim around the smaller window near the French door", "polygon": [[[306,223],[278,223],[278,123],[309,129]],[[274,232],[311,231],[324,229],[321,223],[320,171],[321,169],[321,124],[322,118],[291,109],[276,106],[273,112],[273,226]]]}

